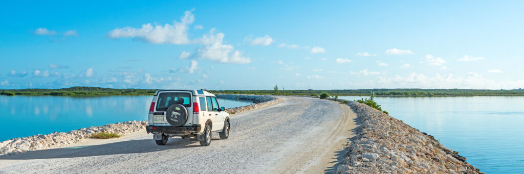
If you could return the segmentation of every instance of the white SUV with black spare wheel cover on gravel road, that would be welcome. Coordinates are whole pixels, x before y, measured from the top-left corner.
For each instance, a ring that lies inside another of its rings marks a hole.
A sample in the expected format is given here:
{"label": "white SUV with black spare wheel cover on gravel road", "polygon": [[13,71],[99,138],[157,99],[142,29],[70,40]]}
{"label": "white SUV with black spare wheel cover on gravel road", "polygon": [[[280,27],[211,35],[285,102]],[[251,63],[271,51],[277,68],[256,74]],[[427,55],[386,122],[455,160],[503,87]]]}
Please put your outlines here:
{"label": "white SUV with black spare wheel cover on gravel road", "polygon": [[200,145],[211,144],[211,134],[227,139],[230,114],[220,107],[215,95],[205,90],[157,90],[151,101],[147,133],[158,145],[169,137],[197,138]]}

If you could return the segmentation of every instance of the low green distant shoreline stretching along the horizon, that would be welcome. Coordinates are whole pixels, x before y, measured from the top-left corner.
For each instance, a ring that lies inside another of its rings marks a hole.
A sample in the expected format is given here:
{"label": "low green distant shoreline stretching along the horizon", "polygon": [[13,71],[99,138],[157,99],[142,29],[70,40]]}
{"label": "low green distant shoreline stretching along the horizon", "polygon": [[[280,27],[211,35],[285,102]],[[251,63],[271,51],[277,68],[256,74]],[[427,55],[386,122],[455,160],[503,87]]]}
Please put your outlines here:
{"label": "low green distant shoreline stretching along the horizon", "polygon": [[[99,87],[71,87],[61,89],[0,89],[5,96],[143,96],[154,95],[157,89],[114,89]],[[473,97],[473,96],[524,96],[523,89],[331,89],[331,90],[210,90],[214,94],[254,94],[318,96],[328,92],[332,96],[369,96],[375,92],[377,97]]]}

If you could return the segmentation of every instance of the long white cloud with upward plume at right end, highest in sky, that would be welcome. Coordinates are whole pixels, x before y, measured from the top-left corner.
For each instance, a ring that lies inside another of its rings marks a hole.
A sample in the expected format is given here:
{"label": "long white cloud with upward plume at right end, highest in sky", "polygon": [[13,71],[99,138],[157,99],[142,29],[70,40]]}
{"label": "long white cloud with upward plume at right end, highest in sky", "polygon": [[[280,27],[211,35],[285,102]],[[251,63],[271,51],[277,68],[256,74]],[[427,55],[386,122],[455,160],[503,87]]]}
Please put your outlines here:
{"label": "long white cloud with upward plume at right end, highest in sky", "polygon": [[173,25],[165,24],[163,26],[151,24],[144,24],[141,28],[116,28],[109,32],[107,37],[117,38],[134,38],[136,40],[162,44],[188,44],[190,40],[188,38],[189,25],[193,24],[194,16],[191,11],[187,10],[184,12],[184,16],[180,18],[181,22],[173,21]]}

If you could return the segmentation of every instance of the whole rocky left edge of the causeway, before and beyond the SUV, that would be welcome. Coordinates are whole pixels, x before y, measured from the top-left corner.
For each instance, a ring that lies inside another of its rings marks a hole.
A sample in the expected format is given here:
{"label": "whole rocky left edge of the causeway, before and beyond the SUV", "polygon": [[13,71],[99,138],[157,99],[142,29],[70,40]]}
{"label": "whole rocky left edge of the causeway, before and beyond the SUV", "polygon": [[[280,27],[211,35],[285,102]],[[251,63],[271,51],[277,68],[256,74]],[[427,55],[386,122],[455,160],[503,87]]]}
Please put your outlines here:
{"label": "whole rocky left edge of the causeway, before and beyond the SUV", "polygon": [[[226,109],[227,112],[232,114],[275,105],[276,103],[283,101],[278,97],[260,95],[218,95],[217,97],[234,100],[249,100],[254,102],[253,105]],[[148,125],[147,121],[133,120],[122,123],[107,124],[104,126],[91,126],[69,132],[54,132],[46,135],[38,134],[28,137],[13,138],[11,140],[0,142],[0,155],[15,155],[31,150],[64,147],[80,142],[85,138],[91,138],[93,133],[98,132],[127,134],[136,131],[143,131],[145,130],[146,125]]]}

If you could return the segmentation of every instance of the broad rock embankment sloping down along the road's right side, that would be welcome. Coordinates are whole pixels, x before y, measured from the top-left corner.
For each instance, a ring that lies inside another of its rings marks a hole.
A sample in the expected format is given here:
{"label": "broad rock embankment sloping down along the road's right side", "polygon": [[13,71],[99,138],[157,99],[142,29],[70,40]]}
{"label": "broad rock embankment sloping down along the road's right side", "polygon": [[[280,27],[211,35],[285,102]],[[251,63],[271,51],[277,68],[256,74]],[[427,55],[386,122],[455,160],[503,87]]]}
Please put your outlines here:
{"label": "broad rock embankment sloping down along the road's right side", "polygon": [[337,173],[482,173],[433,136],[362,103],[347,105],[359,126]]}

